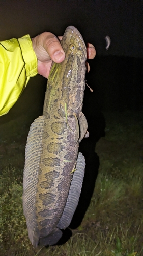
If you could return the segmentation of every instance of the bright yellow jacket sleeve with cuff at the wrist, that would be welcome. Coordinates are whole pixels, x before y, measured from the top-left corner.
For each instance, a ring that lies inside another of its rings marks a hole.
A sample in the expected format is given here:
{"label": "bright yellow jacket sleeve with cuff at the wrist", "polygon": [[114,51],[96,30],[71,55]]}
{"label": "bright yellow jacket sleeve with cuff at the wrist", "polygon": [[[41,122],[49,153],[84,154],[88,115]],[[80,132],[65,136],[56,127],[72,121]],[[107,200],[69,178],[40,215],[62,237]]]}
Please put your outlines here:
{"label": "bright yellow jacket sleeve with cuff at the wrist", "polygon": [[37,75],[37,57],[29,35],[0,42],[0,116],[7,114]]}

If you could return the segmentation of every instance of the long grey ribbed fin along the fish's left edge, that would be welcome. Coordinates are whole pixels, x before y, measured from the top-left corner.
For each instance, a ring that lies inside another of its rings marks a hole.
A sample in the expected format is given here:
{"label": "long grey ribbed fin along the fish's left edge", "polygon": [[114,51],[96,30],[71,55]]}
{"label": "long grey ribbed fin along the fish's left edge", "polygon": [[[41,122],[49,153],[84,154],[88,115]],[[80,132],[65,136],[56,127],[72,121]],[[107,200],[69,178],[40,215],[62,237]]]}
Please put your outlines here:
{"label": "long grey ribbed fin along the fish's left edge", "polygon": [[23,210],[26,218],[28,235],[34,247],[39,243],[39,230],[36,221],[35,203],[44,119],[44,116],[40,116],[32,123],[25,148]]}

